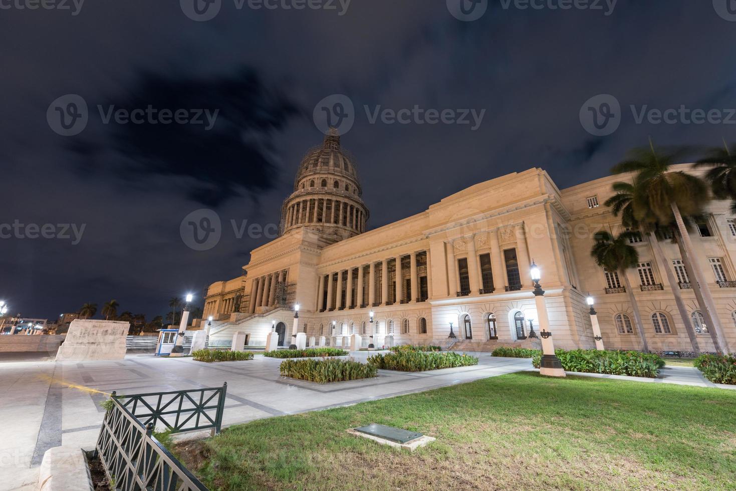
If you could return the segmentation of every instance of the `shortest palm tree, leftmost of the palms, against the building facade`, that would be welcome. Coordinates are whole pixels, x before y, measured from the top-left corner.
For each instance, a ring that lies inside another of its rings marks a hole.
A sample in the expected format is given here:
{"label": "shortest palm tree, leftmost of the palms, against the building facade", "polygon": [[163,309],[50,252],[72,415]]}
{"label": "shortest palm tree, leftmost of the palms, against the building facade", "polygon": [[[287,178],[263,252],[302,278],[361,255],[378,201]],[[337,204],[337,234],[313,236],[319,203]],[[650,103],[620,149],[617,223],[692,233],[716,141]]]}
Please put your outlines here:
{"label": "shortest palm tree, leftmost of the palms, against the building facade", "polygon": [[591,257],[595,260],[595,264],[604,267],[609,271],[618,271],[619,276],[623,277],[626,285],[626,292],[629,294],[631,307],[634,308],[634,321],[637,323],[637,331],[642,340],[642,350],[649,353],[649,345],[646,342],[644,334],[644,325],[642,317],[639,313],[639,304],[637,303],[634,292],[631,290],[629,275],[626,275],[626,269],[633,268],[639,264],[639,252],[631,245],[629,241],[637,237],[636,232],[622,232],[618,236],[613,237],[605,230],[596,233],[595,244],[590,250]]}

